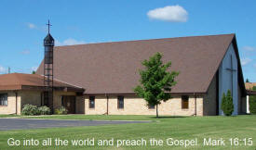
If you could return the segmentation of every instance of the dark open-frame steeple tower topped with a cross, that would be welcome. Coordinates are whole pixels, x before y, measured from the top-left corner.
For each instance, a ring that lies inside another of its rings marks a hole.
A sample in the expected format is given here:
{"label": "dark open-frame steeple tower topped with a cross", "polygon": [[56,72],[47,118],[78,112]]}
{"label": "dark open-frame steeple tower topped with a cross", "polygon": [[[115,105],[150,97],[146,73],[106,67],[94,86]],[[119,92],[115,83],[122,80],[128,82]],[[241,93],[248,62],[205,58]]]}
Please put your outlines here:
{"label": "dark open-frame steeple tower topped with a cross", "polygon": [[45,59],[44,59],[44,85],[46,92],[44,93],[44,106],[48,106],[53,112],[53,47],[54,39],[50,35],[49,29],[51,24],[47,23],[48,33],[44,39]]}

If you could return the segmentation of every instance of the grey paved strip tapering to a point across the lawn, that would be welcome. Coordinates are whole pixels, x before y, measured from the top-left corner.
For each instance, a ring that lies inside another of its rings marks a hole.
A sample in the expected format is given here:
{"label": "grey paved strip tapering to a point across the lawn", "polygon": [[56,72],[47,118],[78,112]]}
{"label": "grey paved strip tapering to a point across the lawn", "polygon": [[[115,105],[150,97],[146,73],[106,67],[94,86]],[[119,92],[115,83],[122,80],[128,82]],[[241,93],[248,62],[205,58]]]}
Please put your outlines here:
{"label": "grey paved strip tapering to a point across the lawn", "polygon": [[66,120],[66,119],[0,119],[0,131],[77,127],[77,126],[99,126],[106,124],[143,123],[150,121],[112,121],[112,120]]}

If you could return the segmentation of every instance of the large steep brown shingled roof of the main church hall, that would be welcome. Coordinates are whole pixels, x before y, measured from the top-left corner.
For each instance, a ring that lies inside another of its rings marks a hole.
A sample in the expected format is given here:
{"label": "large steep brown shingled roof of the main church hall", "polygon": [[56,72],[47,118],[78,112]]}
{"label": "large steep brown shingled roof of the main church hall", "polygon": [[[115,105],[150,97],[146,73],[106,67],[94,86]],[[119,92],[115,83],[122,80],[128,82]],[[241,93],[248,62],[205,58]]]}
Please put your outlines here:
{"label": "large steep brown shingled roof of the main church hall", "polygon": [[[141,61],[160,52],[180,72],[171,93],[205,94],[232,43],[235,34],[57,46],[54,75],[87,89],[85,94],[134,94]],[[43,74],[42,63],[36,73]]]}

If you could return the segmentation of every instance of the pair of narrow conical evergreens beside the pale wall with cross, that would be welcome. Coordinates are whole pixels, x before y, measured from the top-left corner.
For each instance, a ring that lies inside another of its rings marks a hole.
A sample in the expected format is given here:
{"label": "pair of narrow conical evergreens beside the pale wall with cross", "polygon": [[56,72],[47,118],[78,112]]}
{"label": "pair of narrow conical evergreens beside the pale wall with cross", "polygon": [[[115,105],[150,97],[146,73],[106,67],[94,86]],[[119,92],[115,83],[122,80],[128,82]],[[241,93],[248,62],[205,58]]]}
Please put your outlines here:
{"label": "pair of narrow conical evergreens beside the pale wall with cross", "polygon": [[231,116],[234,111],[233,97],[230,90],[227,91],[227,94],[223,93],[222,95],[222,111],[225,116]]}

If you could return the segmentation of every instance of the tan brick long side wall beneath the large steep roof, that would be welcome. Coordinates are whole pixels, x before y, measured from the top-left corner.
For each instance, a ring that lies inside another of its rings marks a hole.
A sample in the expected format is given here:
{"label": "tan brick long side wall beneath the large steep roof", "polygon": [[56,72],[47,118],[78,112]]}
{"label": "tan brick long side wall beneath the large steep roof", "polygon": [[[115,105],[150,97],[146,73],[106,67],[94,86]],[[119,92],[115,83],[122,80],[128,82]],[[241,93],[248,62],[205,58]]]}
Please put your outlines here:
{"label": "tan brick long side wall beneath the large steep roof", "polygon": [[[138,96],[124,96],[124,108],[117,108],[117,96],[109,96],[108,104],[106,96],[95,96],[95,108],[89,108],[88,96],[81,96],[80,101],[85,99],[86,115],[155,115],[155,109],[148,108],[145,100]],[[108,106],[108,108],[107,108]],[[195,96],[189,97],[189,108],[182,109],[181,96],[175,96],[158,106],[159,115],[193,116],[195,115]],[[203,115],[203,98],[196,97],[196,115]]]}

